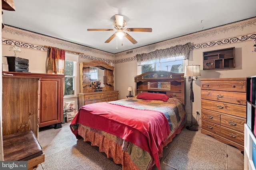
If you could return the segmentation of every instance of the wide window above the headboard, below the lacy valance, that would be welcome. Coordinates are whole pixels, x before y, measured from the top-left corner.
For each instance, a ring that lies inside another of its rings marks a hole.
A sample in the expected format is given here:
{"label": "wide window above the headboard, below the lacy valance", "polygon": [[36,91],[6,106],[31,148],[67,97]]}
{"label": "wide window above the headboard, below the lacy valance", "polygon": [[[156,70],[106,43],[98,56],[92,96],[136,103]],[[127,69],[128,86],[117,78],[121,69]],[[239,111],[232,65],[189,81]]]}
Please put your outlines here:
{"label": "wide window above the headboard, below the lacy valance", "polygon": [[[175,58],[157,59],[154,61],[148,61],[148,64],[141,66],[141,73],[148,71],[170,71],[174,73],[184,73],[184,65],[186,60],[174,60]],[[177,59],[177,57],[176,57]]]}

